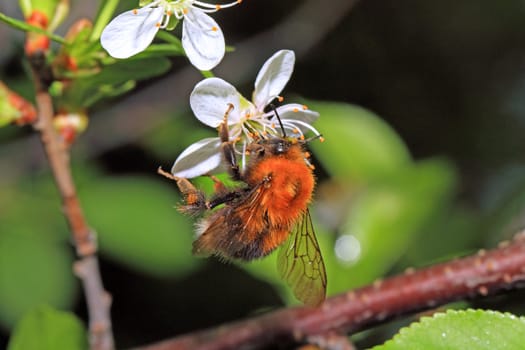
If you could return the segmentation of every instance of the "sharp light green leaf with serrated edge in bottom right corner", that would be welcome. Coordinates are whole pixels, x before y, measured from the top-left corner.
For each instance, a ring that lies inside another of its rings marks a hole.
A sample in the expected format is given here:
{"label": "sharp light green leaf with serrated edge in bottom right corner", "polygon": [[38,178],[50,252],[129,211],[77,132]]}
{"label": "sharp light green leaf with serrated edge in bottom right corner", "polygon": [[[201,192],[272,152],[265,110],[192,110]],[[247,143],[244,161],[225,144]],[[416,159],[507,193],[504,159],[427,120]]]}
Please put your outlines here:
{"label": "sharp light green leaf with serrated edge in bottom right corner", "polygon": [[525,318],[483,310],[449,310],[423,317],[374,350],[520,350]]}

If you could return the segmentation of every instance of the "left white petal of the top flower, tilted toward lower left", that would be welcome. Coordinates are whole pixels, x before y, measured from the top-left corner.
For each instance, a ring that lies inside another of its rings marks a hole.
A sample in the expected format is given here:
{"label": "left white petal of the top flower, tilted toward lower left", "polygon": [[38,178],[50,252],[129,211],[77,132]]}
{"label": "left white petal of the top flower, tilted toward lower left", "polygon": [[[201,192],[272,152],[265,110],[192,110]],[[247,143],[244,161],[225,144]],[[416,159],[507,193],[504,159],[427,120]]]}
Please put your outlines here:
{"label": "left white petal of the top flower, tilted toward lower left", "polygon": [[142,8],[115,17],[102,31],[100,43],[115,58],[128,58],[144,51],[159,31],[163,7]]}

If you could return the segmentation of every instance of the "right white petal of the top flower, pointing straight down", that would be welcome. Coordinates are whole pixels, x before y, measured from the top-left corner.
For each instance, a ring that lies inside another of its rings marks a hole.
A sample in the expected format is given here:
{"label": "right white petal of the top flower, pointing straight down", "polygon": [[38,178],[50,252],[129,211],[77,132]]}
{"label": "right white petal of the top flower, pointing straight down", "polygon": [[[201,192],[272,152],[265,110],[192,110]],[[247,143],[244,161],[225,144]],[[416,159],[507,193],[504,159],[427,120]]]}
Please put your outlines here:
{"label": "right white petal of the top flower, pointing straight down", "polygon": [[197,69],[210,70],[224,57],[224,36],[213,18],[190,8],[182,24],[182,47]]}

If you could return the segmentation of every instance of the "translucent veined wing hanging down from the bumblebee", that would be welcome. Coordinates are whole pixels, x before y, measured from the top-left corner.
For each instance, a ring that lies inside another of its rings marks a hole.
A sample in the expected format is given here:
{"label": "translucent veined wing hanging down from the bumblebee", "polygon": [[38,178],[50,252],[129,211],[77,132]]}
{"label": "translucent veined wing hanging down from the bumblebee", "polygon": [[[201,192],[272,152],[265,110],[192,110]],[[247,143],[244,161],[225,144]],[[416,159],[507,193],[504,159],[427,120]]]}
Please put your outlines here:
{"label": "translucent veined wing hanging down from the bumblebee", "polygon": [[277,269],[305,305],[317,306],[326,296],[326,270],[315,238],[308,209],[303,214],[277,257]]}

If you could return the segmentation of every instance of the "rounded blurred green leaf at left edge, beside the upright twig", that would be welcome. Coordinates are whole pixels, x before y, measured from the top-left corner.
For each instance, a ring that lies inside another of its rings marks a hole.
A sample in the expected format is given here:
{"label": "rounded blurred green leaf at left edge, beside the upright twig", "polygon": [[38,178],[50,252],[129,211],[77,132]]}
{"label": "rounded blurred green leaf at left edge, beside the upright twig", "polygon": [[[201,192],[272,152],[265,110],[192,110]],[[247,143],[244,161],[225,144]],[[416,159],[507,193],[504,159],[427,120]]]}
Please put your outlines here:
{"label": "rounded blurred green leaf at left edge, beside the upright twig", "polygon": [[38,232],[11,226],[0,234],[0,323],[6,327],[41,303],[70,307],[75,295],[69,247],[46,239],[40,224]]}

